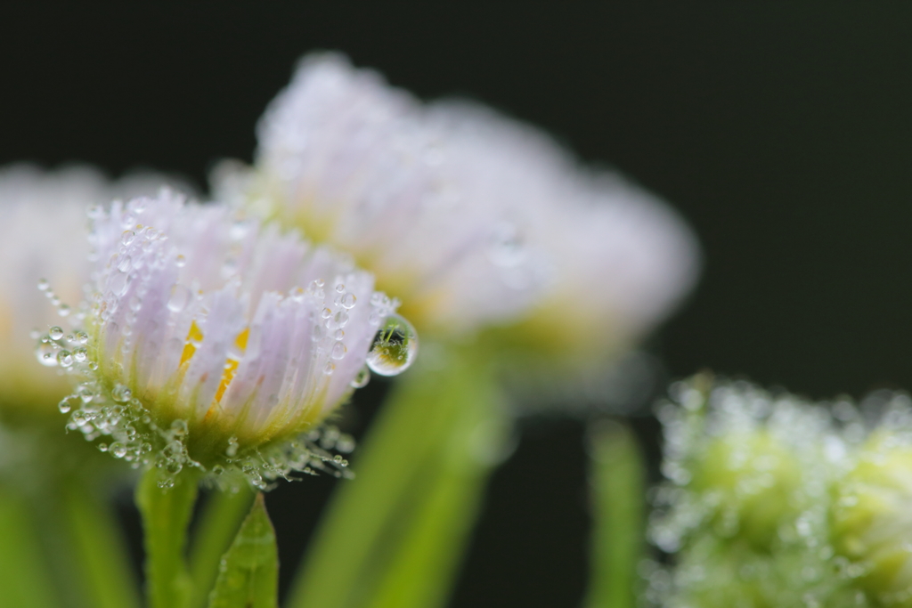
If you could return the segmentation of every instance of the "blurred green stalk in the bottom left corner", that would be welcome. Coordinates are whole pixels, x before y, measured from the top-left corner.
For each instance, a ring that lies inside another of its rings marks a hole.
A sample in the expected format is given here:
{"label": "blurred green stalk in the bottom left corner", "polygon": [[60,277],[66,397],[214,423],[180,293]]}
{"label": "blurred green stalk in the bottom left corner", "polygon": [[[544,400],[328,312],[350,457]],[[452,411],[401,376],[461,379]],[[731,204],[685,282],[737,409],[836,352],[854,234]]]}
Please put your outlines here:
{"label": "blurred green stalk in the bottom left corner", "polygon": [[53,608],[54,582],[38,546],[36,522],[26,500],[0,488],[0,603]]}

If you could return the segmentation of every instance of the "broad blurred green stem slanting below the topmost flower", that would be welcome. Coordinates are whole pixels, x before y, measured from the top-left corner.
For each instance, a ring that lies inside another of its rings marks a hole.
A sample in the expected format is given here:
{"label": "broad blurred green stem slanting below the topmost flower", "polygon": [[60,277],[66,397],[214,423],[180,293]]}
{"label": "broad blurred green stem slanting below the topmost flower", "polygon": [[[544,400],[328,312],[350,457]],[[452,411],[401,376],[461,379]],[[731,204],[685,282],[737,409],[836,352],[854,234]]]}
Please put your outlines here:
{"label": "broad blurred green stem slanting below the topmost flower", "polygon": [[439,604],[507,436],[483,358],[409,371],[326,508],[289,608]]}

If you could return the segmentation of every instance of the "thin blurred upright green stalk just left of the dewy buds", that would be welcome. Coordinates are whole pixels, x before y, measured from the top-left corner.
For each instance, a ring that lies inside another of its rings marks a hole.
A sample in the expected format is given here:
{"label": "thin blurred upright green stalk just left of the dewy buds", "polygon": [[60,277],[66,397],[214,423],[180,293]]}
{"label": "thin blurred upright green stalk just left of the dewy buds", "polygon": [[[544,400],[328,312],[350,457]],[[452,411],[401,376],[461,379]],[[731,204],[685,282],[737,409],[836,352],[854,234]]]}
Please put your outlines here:
{"label": "thin blurred upright green stalk just left of the dewy buds", "polygon": [[634,608],[646,551],[646,472],[629,428],[602,421],[590,429],[593,496],[591,570],[587,608]]}

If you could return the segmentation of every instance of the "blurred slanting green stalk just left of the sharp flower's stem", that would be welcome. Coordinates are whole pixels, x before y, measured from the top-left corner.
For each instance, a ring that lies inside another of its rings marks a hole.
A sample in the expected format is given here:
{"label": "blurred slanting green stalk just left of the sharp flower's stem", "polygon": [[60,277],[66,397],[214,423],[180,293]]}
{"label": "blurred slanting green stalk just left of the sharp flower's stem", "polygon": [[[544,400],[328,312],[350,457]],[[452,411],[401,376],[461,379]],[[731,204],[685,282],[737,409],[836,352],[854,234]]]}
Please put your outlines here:
{"label": "blurred slanting green stalk just left of the sharp flower's stem", "polygon": [[63,489],[61,510],[81,595],[92,608],[135,608],[140,605],[136,577],[130,571],[126,543],[114,513],[79,483]]}

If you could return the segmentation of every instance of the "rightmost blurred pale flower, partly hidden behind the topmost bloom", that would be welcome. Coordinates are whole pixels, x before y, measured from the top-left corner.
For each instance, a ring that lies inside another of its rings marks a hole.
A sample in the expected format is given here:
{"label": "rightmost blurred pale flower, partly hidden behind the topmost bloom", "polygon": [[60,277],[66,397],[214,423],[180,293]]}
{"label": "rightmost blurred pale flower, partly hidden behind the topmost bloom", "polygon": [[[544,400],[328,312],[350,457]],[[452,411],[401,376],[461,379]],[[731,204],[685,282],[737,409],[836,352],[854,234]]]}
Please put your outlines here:
{"label": "rightmost blurred pale flower, partly hidden behind the topmost bloom", "polygon": [[[579,365],[636,345],[696,281],[699,247],[679,215],[616,173],[588,170],[543,132],[465,102],[430,122],[492,174],[513,238],[542,254],[542,294],[505,337]],[[509,236],[509,235],[508,235]],[[569,356],[569,358],[568,358]]]}

